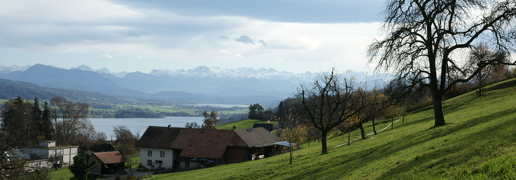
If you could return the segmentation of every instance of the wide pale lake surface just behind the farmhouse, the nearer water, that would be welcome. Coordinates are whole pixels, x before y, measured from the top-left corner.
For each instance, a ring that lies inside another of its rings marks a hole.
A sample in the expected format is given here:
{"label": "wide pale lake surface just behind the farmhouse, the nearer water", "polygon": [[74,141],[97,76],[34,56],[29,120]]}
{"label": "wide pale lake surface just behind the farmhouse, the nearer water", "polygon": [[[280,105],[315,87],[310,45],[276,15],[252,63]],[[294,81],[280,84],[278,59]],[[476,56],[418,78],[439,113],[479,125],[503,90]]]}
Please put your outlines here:
{"label": "wide pale lake surface just behind the farmhouse, the nearer water", "polygon": [[[107,140],[110,140],[113,134],[113,127],[115,125],[126,125],[131,131],[136,132],[140,129],[142,135],[149,125],[167,127],[184,128],[187,122],[196,122],[201,125],[204,117],[165,117],[165,118],[89,118],[95,131],[104,131],[107,135]],[[115,138],[115,137],[114,137]]]}

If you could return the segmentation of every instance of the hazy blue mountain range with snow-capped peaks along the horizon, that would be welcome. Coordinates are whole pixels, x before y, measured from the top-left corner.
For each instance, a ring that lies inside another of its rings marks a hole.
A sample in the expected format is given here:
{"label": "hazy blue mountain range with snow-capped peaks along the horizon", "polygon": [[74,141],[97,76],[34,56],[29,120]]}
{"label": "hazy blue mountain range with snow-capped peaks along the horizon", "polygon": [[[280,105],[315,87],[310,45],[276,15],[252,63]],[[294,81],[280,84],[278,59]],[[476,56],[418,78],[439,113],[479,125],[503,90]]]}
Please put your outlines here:
{"label": "hazy blue mountain range with snow-capped peaks along the horizon", "polygon": [[[357,83],[367,84],[369,87],[385,83],[391,78],[388,74],[371,76],[363,71],[351,69],[341,73],[343,77],[353,77]],[[41,74],[47,76],[40,76]],[[188,70],[153,69],[147,74],[139,71],[114,73],[107,68],[93,69],[86,65],[66,69],[43,64],[34,66],[0,64],[2,79],[108,95],[159,98],[183,97],[177,92],[187,92],[212,97],[260,97],[282,100],[292,96],[300,82],[313,82],[319,75],[320,73],[310,71],[295,74],[274,68],[251,67],[221,69],[198,66]]]}

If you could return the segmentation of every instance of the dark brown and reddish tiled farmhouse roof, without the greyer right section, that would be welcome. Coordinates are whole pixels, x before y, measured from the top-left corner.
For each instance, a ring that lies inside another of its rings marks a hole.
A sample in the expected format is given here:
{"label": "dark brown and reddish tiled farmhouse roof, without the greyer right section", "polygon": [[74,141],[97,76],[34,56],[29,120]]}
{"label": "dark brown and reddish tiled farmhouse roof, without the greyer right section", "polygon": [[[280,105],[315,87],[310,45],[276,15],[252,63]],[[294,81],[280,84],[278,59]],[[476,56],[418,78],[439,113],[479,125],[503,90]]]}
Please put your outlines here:
{"label": "dark brown and reddish tiled farmhouse roof, without the greyer right section", "polygon": [[149,126],[136,144],[140,148],[180,149],[180,157],[221,158],[228,146],[247,147],[232,130]]}

